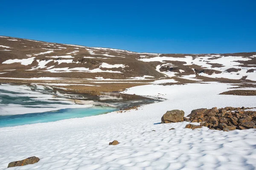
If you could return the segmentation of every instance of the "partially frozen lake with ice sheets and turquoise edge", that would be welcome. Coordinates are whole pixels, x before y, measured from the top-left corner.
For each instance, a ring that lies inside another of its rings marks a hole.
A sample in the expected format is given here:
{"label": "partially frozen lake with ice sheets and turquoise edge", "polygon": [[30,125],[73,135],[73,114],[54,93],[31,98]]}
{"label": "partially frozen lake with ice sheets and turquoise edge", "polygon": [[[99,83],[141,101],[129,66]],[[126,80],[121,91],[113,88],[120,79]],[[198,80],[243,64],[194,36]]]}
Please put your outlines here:
{"label": "partially frozen lake with ice sheets and turquoise edge", "polygon": [[54,122],[95,116],[133,105],[155,102],[141,96],[90,96],[53,90],[42,85],[0,85],[0,127]]}

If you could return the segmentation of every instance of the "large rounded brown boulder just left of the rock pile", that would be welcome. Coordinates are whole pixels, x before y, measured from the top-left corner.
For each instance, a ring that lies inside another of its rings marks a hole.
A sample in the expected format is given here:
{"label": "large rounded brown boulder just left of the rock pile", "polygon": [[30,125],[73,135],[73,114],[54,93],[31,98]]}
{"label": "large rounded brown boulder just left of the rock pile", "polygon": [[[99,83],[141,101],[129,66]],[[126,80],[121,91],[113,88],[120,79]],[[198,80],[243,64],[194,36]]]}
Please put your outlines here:
{"label": "large rounded brown boulder just left of the rock pile", "polygon": [[167,111],[161,118],[161,123],[183,122],[184,114],[184,111],[180,110]]}

